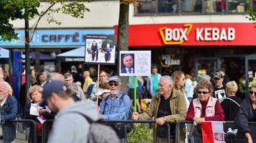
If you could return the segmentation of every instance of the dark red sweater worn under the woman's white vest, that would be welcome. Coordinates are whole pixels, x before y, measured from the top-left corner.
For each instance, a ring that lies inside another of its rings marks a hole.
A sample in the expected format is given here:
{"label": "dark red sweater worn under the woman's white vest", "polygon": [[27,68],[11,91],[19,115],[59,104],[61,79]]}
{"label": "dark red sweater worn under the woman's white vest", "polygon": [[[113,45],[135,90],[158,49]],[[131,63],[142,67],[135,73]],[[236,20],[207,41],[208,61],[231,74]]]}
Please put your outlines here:
{"label": "dark red sweater worn under the woman's white vest", "polygon": [[[215,116],[214,117],[205,117],[206,113],[206,105],[207,102],[200,102],[202,105],[202,113],[201,113],[201,118],[204,117],[206,121],[224,121],[224,112],[223,109],[221,108],[221,104],[219,103],[219,100],[216,101],[215,104]],[[188,107],[188,112],[186,116],[186,120],[193,121],[193,117],[195,117],[195,112],[193,110],[193,100],[191,101],[191,104],[189,104]]]}

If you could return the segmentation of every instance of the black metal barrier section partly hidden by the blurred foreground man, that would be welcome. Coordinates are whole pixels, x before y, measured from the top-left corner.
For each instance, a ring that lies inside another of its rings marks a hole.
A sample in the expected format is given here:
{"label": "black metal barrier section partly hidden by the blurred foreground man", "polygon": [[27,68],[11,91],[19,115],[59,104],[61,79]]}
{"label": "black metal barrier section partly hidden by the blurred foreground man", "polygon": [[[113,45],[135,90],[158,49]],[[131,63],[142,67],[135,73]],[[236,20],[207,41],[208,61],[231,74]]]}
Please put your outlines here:
{"label": "black metal barrier section partly hidden by the blurred foreground man", "polygon": [[[52,125],[52,121],[53,120],[47,120],[44,122],[44,124],[42,124],[42,143],[46,142],[46,138],[47,138],[47,132],[46,132],[46,127],[47,126],[51,126]],[[102,124],[107,124],[107,123],[151,123],[151,124],[156,124],[156,122],[154,120],[101,120]],[[170,125],[168,124],[168,134],[170,134]],[[167,137],[167,143],[170,143],[170,136]]]}

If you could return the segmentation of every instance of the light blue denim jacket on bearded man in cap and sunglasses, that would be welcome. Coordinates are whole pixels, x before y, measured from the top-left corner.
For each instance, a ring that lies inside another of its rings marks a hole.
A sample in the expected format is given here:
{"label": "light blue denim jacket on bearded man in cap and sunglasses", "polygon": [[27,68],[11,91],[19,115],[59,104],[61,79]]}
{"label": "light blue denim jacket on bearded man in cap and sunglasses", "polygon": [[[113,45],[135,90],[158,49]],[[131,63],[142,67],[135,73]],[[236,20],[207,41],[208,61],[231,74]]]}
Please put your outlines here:
{"label": "light blue denim jacket on bearded man in cap and sunglasses", "polygon": [[[119,99],[122,96],[122,92],[116,95],[114,99],[110,97],[104,97],[100,104],[99,114],[103,114],[103,119],[109,120],[125,120],[129,117],[129,97],[124,96],[124,99],[120,103]],[[107,99],[106,99],[107,98]],[[105,102],[106,100],[106,102]]]}

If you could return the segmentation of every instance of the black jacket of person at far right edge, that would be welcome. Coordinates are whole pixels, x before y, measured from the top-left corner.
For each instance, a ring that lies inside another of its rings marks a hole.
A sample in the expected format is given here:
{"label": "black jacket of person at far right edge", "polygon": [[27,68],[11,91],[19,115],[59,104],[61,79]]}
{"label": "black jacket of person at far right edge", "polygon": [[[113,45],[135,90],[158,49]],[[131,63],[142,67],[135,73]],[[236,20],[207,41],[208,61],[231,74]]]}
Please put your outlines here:
{"label": "black jacket of person at far right edge", "polygon": [[248,122],[256,121],[256,112],[252,108],[252,103],[250,98],[244,99],[244,102],[240,105],[240,109],[237,112],[236,124],[238,129],[242,134],[246,132],[251,132]]}

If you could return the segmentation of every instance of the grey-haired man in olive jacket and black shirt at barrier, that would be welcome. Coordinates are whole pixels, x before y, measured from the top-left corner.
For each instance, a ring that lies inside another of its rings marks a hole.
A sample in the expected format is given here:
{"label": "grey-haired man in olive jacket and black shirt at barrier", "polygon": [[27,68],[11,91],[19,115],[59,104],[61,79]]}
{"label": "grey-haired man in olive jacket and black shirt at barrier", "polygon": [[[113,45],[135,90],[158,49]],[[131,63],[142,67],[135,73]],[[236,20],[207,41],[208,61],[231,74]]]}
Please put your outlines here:
{"label": "grey-haired man in olive jacket and black shirt at barrier", "polygon": [[152,97],[149,107],[142,114],[134,112],[132,119],[151,120],[153,117],[157,124],[153,128],[153,142],[167,142],[170,124],[170,135],[175,136],[175,124],[186,117],[186,100],[181,92],[173,90],[173,79],[169,76],[160,78],[157,95]]}

